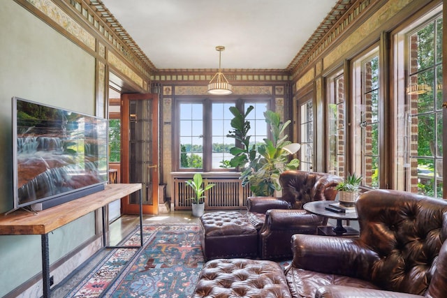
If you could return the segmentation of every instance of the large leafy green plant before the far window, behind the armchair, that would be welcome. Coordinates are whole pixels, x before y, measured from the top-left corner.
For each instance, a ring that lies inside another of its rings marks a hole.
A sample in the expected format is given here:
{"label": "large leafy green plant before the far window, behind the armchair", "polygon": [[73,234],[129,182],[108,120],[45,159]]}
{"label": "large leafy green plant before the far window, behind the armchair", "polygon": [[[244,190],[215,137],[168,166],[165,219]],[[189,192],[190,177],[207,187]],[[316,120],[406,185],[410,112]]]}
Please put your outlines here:
{"label": "large leafy green plant before the far window, behind the armchair", "polygon": [[231,120],[233,130],[227,137],[233,137],[241,144],[240,147],[230,149],[230,153],[233,154],[230,165],[241,170],[242,186],[249,185],[251,193],[256,196],[272,196],[274,191],[281,190],[278,182],[279,174],[284,170],[297,169],[300,161],[297,158],[288,161],[290,152],[284,147],[291,142],[287,140],[288,136],[284,135],[284,131],[291,121],[281,124],[277,112],[270,110],[264,112],[272,140],[265,138],[261,144],[250,142],[250,123],[247,121],[247,115],[253,108],[248,107],[247,112],[243,114],[236,107],[230,107],[230,112],[234,115]]}

